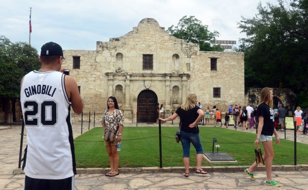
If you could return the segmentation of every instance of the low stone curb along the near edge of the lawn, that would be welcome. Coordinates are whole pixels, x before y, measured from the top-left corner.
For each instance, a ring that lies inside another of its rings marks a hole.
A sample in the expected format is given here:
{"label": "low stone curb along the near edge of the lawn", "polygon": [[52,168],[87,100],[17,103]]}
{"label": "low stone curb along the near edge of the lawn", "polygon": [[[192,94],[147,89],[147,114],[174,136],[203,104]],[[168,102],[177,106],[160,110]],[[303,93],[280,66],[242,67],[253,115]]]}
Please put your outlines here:
{"label": "low stone curb along the near edge of the lawn", "polygon": [[[207,172],[242,172],[249,166],[206,166],[202,167]],[[77,174],[104,174],[108,172],[110,168],[77,168]],[[183,173],[184,167],[140,167],[140,168],[119,168],[119,172],[123,174],[127,173]],[[190,167],[190,171],[194,172],[195,168]],[[265,171],[265,166],[257,167],[256,171]],[[275,165],[272,166],[272,171],[308,171],[308,165]],[[24,174],[21,168],[17,168],[13,171],[13,174]]]}

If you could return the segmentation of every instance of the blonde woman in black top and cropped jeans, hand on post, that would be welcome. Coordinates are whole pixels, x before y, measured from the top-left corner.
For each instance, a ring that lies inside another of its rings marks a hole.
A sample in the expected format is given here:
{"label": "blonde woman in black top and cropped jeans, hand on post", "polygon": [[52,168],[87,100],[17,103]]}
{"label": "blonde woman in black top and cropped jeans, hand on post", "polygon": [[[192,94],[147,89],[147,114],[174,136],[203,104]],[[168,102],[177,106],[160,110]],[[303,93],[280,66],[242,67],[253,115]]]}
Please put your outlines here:
{"label": "blonde woman in black top and cropped jeans, hand on post", "polygon": [[186,101],[175,111],[175,113],[166,118],[158,118],[163,122],[172,121],[178,116],[180,117],[181,125],[181,143],[183,148],[183,163],[185,166],[185,177],[189,177],[189,152],[190,152],[190,143],[196,149],[196,161],[197,161],[197,174],[208,174],[206,171],[202,170],[202,155],[203,147],[200,141],[199,136],[199,127],[198,122],[203,118],[203,111],[196,106],[197,104],[197,95],[189,94],[186,98]]}

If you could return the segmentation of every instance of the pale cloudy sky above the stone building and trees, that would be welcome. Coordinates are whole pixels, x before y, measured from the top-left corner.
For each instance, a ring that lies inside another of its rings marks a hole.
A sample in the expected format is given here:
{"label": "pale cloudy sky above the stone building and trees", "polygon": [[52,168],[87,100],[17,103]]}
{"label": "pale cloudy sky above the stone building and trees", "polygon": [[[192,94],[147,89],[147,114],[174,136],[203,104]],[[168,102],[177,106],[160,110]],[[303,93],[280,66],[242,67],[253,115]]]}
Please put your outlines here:
{"label": "pale cloudy sky above the stone building and trees", "polygon": [[144,18],[154,18],[165,30],[183,16],[195,16],[217,40],[245,37],[237,22],[253,18],[258,3],[277,0],[1,0],[0,36],[11,42],[29,43],[38,50],[53,41],[64,50],[96,50],[96,42],[108,42],[127,34]]}

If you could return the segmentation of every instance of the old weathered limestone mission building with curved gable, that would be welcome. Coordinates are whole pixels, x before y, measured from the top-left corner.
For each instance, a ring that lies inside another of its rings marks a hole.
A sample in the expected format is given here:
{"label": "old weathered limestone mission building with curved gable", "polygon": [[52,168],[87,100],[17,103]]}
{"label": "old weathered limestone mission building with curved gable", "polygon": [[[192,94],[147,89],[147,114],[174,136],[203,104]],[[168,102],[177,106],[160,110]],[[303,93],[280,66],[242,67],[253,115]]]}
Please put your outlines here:
{"label": "old weathered limestone mission building with curved gable", "polygon": [[[64,50],[63,67],[70,69],[84,103],[83,113],[101,118],[107,98],[115,96],[125,123],[155,122],[155,106],[174,112],[195,93],[205,109],[222,112],[244,105],[244,53],[201,52],[199,44],[171,36],[153,18],[96,50]],[[80,116],[73,114],[73,122]]]}

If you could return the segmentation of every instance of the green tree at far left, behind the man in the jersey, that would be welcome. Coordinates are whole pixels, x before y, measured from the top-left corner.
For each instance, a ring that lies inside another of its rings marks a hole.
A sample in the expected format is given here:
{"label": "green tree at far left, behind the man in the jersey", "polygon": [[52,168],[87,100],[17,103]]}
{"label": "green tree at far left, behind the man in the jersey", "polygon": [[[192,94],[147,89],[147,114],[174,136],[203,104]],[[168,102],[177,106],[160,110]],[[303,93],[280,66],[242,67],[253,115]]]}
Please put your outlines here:
{"label": "green tree at far left, behind the man in the jersey", "polygon": [[[38,52],[25,42],[11,43],[0,36],[0,98],[14,105],[20,97],[20,81],[28,72],[40,68]],[[15,106],[11,105],[15,121]]]}

